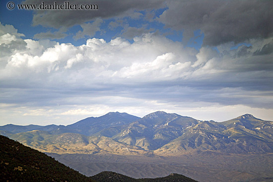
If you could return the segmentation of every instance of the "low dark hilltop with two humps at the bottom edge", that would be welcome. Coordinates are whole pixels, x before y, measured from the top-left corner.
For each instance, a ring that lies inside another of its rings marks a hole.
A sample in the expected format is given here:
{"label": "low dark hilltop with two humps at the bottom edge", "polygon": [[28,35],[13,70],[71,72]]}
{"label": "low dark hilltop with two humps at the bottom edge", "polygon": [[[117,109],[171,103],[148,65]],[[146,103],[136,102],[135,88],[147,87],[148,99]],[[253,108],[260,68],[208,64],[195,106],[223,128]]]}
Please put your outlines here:
{"label": "low dark hilltop with two humps at the bottom edge", "polygon": [[134,179],[114,172],[101,172],[91,177],[97,182],[197,182],[183,175],[171,174],[163,178]]}

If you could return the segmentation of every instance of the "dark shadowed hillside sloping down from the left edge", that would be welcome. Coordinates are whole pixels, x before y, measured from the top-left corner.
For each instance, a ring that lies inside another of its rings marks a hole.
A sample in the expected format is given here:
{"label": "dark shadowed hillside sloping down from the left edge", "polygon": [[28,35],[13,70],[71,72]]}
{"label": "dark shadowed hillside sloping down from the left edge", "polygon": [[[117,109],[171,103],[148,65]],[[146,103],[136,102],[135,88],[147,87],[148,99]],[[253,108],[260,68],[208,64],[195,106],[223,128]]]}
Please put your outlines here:
{"label": "dark shadowed hillside sloping down from the left edge", "polygon": [[0,135],[1,182],[94,182],[53,158]]}

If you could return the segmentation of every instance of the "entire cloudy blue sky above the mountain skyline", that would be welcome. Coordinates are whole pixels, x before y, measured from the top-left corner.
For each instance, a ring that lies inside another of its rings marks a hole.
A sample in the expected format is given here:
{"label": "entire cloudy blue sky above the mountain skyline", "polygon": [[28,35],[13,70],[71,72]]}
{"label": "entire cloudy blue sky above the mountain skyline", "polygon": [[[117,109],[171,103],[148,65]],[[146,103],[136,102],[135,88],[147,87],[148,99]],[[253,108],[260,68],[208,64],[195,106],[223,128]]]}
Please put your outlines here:
{"label": "entire cloudy blue sky above the mountain skyline", "polygon": [[65,1],[89,9],[0,1],[0,125],[158,110],[273,121],[272,0]]}

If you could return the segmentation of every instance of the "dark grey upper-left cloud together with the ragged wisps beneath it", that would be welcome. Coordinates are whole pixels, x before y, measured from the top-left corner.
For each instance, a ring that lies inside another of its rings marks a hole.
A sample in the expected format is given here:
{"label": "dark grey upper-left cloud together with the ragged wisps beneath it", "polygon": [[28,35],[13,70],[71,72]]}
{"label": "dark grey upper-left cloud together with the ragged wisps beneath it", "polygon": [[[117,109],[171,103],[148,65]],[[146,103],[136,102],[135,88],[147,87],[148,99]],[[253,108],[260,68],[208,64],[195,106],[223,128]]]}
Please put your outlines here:
{"label": "dark grey upper-left cloud together with the ragged wisps beneath it", "polygon": [[[25,0],[24,3],[33,4],[37,3],[35,0]],[[65,0],[58,1],[58,4],[65,3]],[[73,35],[74,40],[82,38],[92,38],[96,32],[103,34],[104,32],[109,32],[117,27],[122,27],[121,33],[116,33],[113,38],[121,36],[123,38],[132,39],[135,36],[140,36],[143,33],[148,33],[154,31],[153,28],[136,28],[128,26],[128,19],[139,20],[145,19],[146,11],[151,11],[157,8],[165,6],[164,0],[100,0],[90,1],[90,0],[78,0],[77,4],[98,4],[98,10],[35,10],[33,15],[33,25],[42,25],[43,27],[65,29],[71,28],[75,25],[80,25],[82,30],[77,31]],[[54,4],[53,0],[48,0],[46,4]],[[110,23],[107,20],[113,20]],[[106,20],[106,21],[104,21]],[[108,23],[108,27],[101,28],[102,23]],[[52,32],[51,30],[47,32],[37,33],[34,35],[35,39],[63,39],[68,36],[64,31]],[[110,33],[111,34],[111,33]]]}

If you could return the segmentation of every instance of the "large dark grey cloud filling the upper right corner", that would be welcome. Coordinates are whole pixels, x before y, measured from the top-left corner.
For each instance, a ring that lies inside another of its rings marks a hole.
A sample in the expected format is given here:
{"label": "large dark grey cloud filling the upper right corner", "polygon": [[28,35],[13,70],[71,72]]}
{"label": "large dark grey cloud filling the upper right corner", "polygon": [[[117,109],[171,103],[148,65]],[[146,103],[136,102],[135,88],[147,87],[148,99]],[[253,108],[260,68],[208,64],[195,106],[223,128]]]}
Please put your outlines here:
{"label": "large dark grey cloud filling the upper right corner", "polygon": [[204,32],[204,45],[247,42],[273,36],[271,0],[170,0],[158,21],[184,30],[186,42],[193,31]]}

